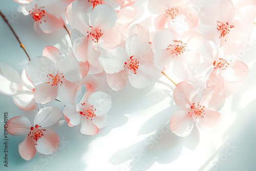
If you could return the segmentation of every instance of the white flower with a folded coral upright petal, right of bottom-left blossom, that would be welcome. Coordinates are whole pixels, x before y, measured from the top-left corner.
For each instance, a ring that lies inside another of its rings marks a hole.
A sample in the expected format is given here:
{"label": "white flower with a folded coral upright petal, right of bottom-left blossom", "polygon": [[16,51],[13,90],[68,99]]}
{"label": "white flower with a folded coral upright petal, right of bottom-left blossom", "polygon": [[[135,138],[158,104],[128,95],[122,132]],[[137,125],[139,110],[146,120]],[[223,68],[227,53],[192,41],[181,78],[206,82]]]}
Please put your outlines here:
{"label": "white flower with a folded coral upright petal, right of bottom-left blossom", "polygon": [[[63,114],[69,126],[81,122],[81,133],[95,135],[99,129],[108,124],[106,115],[111,108],[111,98],[104,92],[94,92],[90,84],[86,84],[87,92],[77,105],[68,104]],[[93,93],[94,92],[94,93]]]}

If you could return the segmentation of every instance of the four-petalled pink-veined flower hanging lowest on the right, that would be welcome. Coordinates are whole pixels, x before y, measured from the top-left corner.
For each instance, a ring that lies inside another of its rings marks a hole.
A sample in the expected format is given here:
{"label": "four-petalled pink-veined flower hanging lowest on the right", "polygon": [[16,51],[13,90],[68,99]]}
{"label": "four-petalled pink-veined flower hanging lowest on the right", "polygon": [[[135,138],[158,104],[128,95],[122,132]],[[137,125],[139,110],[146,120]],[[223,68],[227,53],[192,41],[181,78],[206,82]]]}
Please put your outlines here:
{"label": "four-petalled pink-veined flower hanging lowest on the right", "polygon": [[196,122],[199,129],[216,132],[222,126],[221,110],[225,103],[225,93],[217,86],[208,87],[202,93],[186,82],[180,82],[174,90],[174,101],[182,110],[170,119],[170,129],[180,137],[191,133]]}

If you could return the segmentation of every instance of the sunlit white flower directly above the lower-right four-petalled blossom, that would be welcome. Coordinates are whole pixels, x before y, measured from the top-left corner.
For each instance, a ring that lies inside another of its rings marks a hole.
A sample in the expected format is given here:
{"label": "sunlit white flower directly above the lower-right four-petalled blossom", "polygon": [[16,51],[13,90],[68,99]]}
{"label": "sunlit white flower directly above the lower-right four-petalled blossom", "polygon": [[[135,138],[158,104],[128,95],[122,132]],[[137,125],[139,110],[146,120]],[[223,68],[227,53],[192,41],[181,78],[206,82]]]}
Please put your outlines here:
{"label": "sunlit white flower directly above the lower-right four-petalled blossom", "polygon": [[163,70],[173,60],[174,75],[187,80],[191,73],[190,66],[201,50],[202,42],[203,37],[198,32],[189,31],[179,37],[169,30],[158,31],[154,37],[157,50],[154,64],[159,70]]}

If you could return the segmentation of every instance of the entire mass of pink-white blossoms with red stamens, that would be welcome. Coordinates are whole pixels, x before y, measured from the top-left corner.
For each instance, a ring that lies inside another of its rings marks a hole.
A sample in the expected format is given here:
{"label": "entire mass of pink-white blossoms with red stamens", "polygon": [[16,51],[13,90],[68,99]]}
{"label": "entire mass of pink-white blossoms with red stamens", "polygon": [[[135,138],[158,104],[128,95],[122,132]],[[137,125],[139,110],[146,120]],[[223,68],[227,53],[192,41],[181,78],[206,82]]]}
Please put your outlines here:
{"label": "entire mass of pink-white blossoms with red stamens", "polygon": [[[63,111],[54,106],[38,110],[34,124],[24,116],[8,121],[9,134],[26,135],[18,146],[25,160],[36,151],[56,151],[58,136],[47,127],[62,116],[71,127],[81,122],[85,135],[95,135],[108,124],[112,100],[97,91],[96,74],[104,73],[108,86],[119,91],[127,82],[145,88],[172,68],[182,81],[173,92],[181,110],[170,114],[170,129],[184,137],[194,125],[206,132],[220,130],[224,82],[239,81],[249,72],[238,50],[245,39],[251,41],[254,1],[208,1],[197,11],[196,1],[148,0],[154,18],[146,25],[137,22],[135,0],[14,1],[34,20],[36,32],[54,34],[65,28],[72,42],[65,52],[45,47],[21,76],[0,63],[0,93],[11,96],[20,109],[56,99],[65,105]],[[190,85],[197,81],[205,83],[204,90]]]}

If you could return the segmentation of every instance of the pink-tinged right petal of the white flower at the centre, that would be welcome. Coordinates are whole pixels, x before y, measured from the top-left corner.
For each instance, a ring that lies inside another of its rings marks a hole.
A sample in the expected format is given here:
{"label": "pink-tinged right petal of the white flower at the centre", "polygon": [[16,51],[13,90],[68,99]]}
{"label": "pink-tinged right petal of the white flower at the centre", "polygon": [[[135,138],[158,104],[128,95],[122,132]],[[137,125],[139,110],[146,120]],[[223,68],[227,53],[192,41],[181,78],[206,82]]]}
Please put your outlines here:
{"label": "pink-tinged right petal of the white flower at the centre", "polygon": [[139,70],[148,76],[154,76],[160,73],[161,71],[154,65],[154,53],[152,49],[144,53],[144,55],[137,58],[139,61]]}

